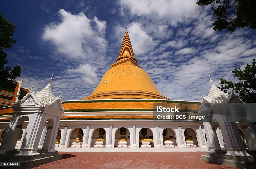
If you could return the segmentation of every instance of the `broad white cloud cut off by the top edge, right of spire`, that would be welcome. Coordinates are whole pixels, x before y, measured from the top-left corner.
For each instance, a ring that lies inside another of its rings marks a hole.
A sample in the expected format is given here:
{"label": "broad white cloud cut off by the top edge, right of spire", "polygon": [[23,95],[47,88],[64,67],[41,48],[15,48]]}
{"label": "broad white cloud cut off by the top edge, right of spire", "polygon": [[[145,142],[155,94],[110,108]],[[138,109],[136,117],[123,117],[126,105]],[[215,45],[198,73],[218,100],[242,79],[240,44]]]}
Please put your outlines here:
{"label": "broad white cloud cut off by the top edge, right of spire", "polygon": [[168,18],[172,25],[177,25],[178,22],[186,22],[194,19],[198,14],[196,1],[191,0],[120,0],[121,11],[125,14],[125,10],[129,9],[132,15],[154,15],[160,18]]}

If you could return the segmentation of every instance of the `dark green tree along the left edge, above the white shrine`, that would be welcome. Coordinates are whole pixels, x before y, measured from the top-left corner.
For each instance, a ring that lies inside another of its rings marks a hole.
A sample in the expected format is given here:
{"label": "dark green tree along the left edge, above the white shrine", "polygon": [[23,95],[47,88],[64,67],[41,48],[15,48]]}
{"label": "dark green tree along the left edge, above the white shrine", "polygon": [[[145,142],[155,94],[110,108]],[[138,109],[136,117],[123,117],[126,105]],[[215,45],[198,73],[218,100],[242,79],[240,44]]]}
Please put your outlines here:
{"label": "dark green tree along the left edge, above the white shrine", "polygon": [[[21,67],[15,66],[13,69],[10,66],[4,66],[8,63],[7,54],[3,50],[10,49],[16,40],[12,38],[16,27],[3,17],[0,13],[0,91],[2,89],[15,88],[16,77],[20,77]],[[10,79],[7,81],[7,79]]]}

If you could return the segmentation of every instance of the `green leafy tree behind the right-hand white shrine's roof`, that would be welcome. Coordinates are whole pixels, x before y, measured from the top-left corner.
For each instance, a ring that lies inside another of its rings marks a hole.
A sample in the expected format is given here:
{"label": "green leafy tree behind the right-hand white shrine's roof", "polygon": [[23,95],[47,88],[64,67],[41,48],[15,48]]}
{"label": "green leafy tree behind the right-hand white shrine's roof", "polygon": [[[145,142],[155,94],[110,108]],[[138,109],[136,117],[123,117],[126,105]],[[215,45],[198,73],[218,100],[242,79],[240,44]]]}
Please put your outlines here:
{"label": "green leafy tree behind the right-hand white shrine's roof", "polygon": [[252,64],[246,65],[246,67],[239,67],[233,70],[234,77],[238,79],[238,82],[228,81],[226,79],[220,79],[220,89],[227,92],[227,89],[234,89],[237,96],[244,102],[256,103],[256,62],[253,59]]}

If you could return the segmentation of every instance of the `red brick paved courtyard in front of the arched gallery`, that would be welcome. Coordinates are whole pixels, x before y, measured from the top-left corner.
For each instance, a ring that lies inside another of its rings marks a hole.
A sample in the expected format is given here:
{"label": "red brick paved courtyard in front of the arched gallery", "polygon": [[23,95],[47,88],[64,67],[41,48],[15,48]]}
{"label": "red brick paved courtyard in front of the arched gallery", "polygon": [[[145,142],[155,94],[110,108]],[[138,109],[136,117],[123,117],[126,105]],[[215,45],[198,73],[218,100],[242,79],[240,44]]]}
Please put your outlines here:
{"label": "red brick paved courtyard in front of the arched gallery", "polygon": [[62,160],[39,168],[232,168],[200,160],[205,152],[59,152]]}

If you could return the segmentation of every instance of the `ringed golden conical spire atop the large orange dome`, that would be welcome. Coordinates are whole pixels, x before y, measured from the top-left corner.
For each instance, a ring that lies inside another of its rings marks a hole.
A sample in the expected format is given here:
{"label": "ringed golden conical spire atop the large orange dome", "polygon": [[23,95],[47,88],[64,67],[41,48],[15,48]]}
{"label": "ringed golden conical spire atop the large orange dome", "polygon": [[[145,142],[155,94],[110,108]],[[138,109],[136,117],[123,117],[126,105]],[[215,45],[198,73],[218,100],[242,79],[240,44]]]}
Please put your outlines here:
{"label": "ringed golden conical spire atop the large orange dome", "polygon": [[119,56],[116,59],[116,62],[118,62],[122,58],[128,58],[128,57],[133,58],[133,60],[136,63],[138,63],[137,59],[134,56],[134,53],[133,53],[133,50],[132,50],[132,44],[131,44],[130,37],[129,37],[129,34],[127,32],[127,28],[126,28],[123,43],[122,43],[122,46],[121,46],[121,49],[120,49]]}

